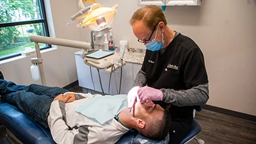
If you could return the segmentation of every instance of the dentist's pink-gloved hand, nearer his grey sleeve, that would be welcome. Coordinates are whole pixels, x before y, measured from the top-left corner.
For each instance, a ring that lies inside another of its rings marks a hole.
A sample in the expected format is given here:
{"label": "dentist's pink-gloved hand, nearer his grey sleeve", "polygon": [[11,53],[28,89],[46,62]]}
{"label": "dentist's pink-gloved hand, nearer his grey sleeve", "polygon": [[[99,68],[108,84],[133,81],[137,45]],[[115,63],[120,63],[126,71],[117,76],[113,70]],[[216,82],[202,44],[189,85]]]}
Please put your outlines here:
{"label": "dentist's pink-gloved hand, nearer his grey sleeve", "polygon": [[138,96],[140,98],[141,103],[146,103],[148,99],[163,101],[163,92],[161,90],[149,86],[139,88]]}

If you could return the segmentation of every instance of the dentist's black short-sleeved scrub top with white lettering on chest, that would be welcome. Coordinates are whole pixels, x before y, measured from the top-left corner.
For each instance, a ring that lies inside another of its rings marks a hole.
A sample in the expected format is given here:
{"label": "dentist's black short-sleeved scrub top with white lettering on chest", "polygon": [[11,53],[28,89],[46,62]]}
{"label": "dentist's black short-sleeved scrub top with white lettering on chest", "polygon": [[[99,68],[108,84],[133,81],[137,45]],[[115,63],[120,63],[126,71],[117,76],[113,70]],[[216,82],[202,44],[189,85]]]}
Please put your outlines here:
{"label": "dentist's black short-sleeved scrub top with white lettering on chest", "polygon": [[[147,50],[141,70],[147,74],[147,85],[157,89],[188,90],[208,83],[202,51],[191,38],[180,33],[173,38],[163,54]],[[166,107],[164,102],[155,103]],[[172,119],[184,118],[188,122],[193,120],[193,109],[193,106],[170,105]]]}

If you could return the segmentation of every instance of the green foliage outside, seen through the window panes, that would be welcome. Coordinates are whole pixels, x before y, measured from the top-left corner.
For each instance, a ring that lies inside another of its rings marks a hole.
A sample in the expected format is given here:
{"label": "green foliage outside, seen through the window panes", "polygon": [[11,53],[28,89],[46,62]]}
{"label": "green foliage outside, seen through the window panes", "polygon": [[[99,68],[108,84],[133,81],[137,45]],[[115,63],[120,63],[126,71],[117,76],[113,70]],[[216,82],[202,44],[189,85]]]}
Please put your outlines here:
{"label": "green foliage outside, seen through the window panes", "polygon": [[[28,21],[17,19],[17,10],[22,13],[22,17],[26,17],[29,20],[42,19],[42,12],[40,12],[38,0],[1,0],[0,24]],[[27,28],[31,28],[33,33],[26,33]],[[44,35],[43,24],[34,23],[3,28],[0,25],[0,52],[31,43],[29,35]]]}

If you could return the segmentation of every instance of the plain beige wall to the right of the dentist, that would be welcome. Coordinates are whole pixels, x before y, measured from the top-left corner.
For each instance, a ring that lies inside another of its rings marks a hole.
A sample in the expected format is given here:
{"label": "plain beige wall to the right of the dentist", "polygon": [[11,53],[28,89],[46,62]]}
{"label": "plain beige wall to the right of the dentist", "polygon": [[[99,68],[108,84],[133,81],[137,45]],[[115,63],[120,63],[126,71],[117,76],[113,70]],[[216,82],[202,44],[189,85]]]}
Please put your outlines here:
{"label": "plain beige wall to the right of the dentist", "polygon": [[170,28],[201,47],[209,75],[207,104],[256,115],[256,1],[204,1],[168,7]]}

